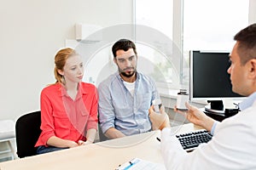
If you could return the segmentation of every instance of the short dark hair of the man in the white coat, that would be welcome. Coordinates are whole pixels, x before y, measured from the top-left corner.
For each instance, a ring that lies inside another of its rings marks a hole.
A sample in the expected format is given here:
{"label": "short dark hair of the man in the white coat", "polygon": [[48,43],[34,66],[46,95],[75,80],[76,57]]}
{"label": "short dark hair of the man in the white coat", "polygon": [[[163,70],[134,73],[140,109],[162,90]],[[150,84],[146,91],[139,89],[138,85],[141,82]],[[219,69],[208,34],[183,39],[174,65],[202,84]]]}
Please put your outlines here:
{"label": "short dark hair of the man in the white coat", "polygon": [[237,53],[241,65],[245,65],[250,59],[256,59],[256,24],[239,31],[234,40],[238,42]]}

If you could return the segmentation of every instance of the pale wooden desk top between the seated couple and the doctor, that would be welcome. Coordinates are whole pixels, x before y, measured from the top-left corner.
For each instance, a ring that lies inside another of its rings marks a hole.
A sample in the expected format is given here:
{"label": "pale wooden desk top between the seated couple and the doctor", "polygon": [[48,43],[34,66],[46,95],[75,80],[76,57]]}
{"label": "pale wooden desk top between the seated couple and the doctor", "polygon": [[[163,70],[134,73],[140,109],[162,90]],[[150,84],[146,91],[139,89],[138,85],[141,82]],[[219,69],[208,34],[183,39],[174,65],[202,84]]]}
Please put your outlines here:
{"label": "pale wooden desk top between the seated couple and the doctor", "polygon": [[[192,123],[172,127],[175,133],[186,133],[200,128]],[[14,161],[5,161],[0,163],[0,169],[114,169],[119,164],[130,161],[135,157],[163,163],[160,154],[160,142],[156,137],[160,137],[160,131],[112,139]]]}

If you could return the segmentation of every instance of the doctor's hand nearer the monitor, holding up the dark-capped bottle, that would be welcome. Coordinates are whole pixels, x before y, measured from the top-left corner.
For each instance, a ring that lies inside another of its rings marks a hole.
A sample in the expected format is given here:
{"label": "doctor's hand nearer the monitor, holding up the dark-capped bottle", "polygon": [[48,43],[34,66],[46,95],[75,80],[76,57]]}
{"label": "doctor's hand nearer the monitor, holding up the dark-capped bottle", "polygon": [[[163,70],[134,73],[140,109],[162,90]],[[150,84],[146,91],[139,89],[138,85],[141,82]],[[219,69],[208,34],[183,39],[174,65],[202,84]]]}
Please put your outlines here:
{"label": "doctor's hand nearer the monitor, holding up the dark-capped bottle", "polygon": [[188,111],[179,111],[177,110],[176,106],[174,107],[174,111],[185,116],[189,120],[189,122],[204,127],[208,131],[211,131],[214,120],[211,117],[207,116],[204,112],[199,111],[199,109],[197,109],[195,106],[189,105],[188,102],[186,102],[185,105]]}

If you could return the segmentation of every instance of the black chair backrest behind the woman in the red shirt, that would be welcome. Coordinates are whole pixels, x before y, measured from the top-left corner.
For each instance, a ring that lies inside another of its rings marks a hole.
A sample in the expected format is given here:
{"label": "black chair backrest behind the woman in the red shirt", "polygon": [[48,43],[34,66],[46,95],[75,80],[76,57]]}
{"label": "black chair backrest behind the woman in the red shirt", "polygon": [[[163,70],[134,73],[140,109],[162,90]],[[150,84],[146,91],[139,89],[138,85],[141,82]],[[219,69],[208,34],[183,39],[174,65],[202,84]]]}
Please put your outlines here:
{"label": "black chair backrest behind the woman in the red shirt", "polygon": [[41,133],[41,111],[20,116],[15,125],[17,155],[21,157],[36,155],[35,144]]}

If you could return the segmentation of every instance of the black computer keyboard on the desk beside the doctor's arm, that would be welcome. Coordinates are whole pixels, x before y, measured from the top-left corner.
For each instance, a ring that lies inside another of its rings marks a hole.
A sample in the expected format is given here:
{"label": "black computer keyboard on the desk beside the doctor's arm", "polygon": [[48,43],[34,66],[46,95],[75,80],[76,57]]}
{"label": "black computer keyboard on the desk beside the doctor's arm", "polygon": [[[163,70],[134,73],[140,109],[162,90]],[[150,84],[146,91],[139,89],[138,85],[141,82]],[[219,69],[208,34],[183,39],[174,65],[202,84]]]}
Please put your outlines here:
{"label": "black computer keyboard on the desk beside the doctor's arm", "polygon": [[207,143],[212,139],[212,134],[207,130],[198,130],[191,133],[182,133],[176,135],[183,149],[186,151],[194,150],[199,144]]}

